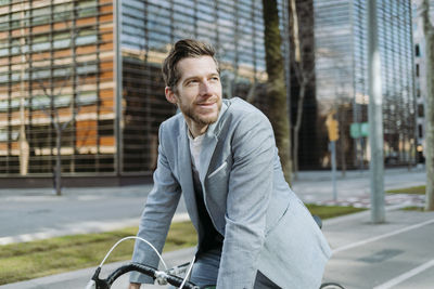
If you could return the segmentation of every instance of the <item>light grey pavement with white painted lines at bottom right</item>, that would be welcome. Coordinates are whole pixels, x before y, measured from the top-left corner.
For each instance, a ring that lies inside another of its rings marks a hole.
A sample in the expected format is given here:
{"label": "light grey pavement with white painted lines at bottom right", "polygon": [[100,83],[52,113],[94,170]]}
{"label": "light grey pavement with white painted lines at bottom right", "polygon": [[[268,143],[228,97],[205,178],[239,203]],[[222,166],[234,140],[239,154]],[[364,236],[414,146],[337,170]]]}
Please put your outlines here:
{"label": "light grey pavement with white painted lines at bottom right", "polygon": [[324,281],[345,288],[432,289],[434,212],[392,210],[384,224],[370,212],[324,222],[333,249]]}

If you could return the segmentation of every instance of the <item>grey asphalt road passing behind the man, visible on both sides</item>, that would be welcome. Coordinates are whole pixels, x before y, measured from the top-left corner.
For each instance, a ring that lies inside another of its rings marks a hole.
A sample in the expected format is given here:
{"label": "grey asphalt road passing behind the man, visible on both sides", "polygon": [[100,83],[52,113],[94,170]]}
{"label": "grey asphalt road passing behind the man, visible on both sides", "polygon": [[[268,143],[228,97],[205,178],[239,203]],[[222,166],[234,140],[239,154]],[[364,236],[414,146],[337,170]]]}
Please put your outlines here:
{"label": "grey asphalt road passing behind the man, visible on both sides", "polygon": [[[393,169],[386,171],[384,186],[408,187],[423,184],[424,180],[423,170]],[[61,197],[52,188],[2,188],[0,245],[138,225],[151,188],[152,185],[66,187]],[[293,189],[305,202],[331,200],[331,172],[301,172]],[[348,171],[345,178],[337,174],[337,203],[352,205],[348,200],[353,199],[369,206],[369,171]],[[186,216],[182,198],[177,213]]]}

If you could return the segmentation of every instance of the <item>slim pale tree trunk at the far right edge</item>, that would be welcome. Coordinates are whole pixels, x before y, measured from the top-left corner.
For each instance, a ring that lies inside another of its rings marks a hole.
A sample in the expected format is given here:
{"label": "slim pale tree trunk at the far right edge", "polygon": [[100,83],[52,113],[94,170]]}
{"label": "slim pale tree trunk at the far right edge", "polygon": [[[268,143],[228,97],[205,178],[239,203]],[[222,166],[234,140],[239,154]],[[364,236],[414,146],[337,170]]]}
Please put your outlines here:
{"label": "slim pale tree trunk at the far right edge", "polygon": [[425,98],[425,154],[426,154],[426,202],[425,210],[434,210],[434,27],[430,22],[430,1],[421,6],[425,36],[426,98]]}

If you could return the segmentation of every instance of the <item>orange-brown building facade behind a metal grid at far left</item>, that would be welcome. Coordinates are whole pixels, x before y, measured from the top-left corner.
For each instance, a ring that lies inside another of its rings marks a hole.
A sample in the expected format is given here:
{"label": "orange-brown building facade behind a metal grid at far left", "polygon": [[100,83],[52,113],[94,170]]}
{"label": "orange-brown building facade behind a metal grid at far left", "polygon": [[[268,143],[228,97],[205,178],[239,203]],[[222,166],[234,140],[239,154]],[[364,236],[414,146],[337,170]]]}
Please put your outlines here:
{"label": "orange-brown building facade behind a metal grid at far left", "polygon": [[1,1],[0,173],[113,172],[113,5]]}

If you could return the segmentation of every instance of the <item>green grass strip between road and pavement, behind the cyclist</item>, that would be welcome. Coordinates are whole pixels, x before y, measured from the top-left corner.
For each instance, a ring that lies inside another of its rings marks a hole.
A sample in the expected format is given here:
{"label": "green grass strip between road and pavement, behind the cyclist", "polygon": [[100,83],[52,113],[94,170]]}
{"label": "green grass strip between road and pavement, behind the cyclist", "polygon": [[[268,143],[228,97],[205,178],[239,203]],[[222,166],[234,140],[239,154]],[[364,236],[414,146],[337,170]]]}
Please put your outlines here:
{"label": "green grass strip between road and pavement, behind the cyclist", "polygon": [[[307,205],[321,219],[354,213],[363,209],[339,206]],[[137,234],[137,227],[107,233],[86,234],[0,246],[0,285],[97,266],[120,238]],[[173,223],[164,251],[196,245],[191,222]],[[133,240],[126,240],[113,251],[107,262],[129,260]]]}

